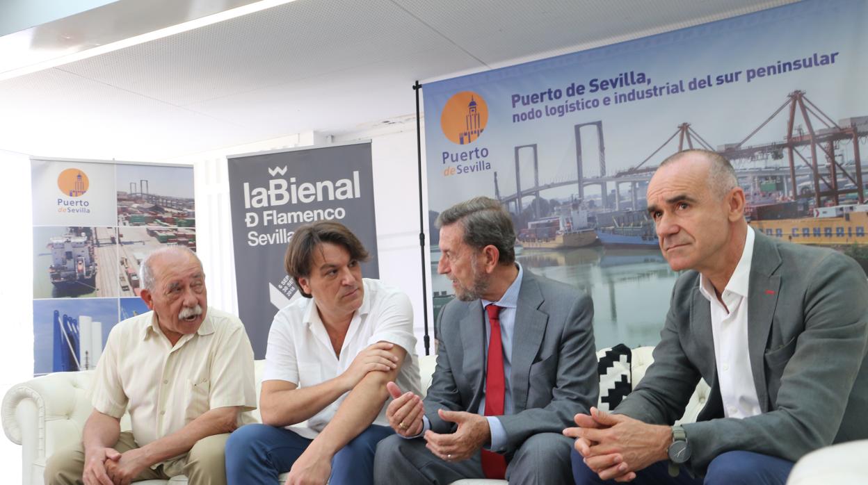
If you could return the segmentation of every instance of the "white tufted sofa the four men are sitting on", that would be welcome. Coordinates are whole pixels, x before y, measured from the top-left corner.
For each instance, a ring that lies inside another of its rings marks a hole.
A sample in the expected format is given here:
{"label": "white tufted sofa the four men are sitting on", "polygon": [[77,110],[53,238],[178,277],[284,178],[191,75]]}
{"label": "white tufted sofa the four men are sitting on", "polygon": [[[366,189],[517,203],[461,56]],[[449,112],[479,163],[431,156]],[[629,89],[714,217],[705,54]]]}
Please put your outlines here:
{"label": "white tufted sofa the four men are sitting on", "polygon": [[[634,386],[645,375],[645,370],[651,364],[652,350],[652,347],[633,350],[631,381]],[[602,352],[598,353],[598,357]],[[436,356],[420,357],[419,360],[422,389],[427,390],[431,384]],[[257,393],[260,390],[264,363],[265,361],[257,361],[255,365]],[[45,459],[55,450],[71,446],[82,439],[82,428],[92,409],[86,394],[93,375],[92,370],[83,370],[36,377],[17,384],[3,397],[3,407],[0,410],[3,417],[3,431],[12,442],[22,445],[24,485],[43,485]],[[695,421],[705,404],[707,395],[708,386],[702,382],[691,398],[681,421],[686,423]],[[261,421],[259,410],[253,411],[253,416]],[[122,429],[129,429],[129,416],[123,417],[121,426]],[[142,485],[187,483],[187,477],[181,475],[169,481],[149,480],[138,483]],[[503,485],[505,483],[501,480],[460,480],[453,485]]]}

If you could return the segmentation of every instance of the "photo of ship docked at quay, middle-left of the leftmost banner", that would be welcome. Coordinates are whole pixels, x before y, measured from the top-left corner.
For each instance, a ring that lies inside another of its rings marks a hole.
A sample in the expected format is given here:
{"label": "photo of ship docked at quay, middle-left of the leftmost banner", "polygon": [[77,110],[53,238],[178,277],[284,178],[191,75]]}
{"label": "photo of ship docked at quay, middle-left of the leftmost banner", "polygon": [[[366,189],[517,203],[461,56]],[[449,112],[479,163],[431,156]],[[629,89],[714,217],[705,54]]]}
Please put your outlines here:
{"label": "photo of ship docked at quay, middle-left of the leftmost banner", "polygon": [[33,228],[33,298],[116,297],[114,227]]}

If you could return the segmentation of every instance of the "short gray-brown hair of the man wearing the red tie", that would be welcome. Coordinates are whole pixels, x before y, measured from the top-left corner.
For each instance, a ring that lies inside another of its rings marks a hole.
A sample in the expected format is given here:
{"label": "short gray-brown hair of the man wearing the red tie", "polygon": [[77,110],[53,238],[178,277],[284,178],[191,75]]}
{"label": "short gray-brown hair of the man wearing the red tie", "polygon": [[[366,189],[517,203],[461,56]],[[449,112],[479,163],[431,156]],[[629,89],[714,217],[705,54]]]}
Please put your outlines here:
{"label": "short gray-brown hair of the man wearing the red tie", "polygon": [[511,265],[516,261],[516,229],[510,213],[500,202],[489,197],[464,200],[437,216],[437,227],[460,222],[464,228],[464,244],[482,249],[495,246],[500,263]]}

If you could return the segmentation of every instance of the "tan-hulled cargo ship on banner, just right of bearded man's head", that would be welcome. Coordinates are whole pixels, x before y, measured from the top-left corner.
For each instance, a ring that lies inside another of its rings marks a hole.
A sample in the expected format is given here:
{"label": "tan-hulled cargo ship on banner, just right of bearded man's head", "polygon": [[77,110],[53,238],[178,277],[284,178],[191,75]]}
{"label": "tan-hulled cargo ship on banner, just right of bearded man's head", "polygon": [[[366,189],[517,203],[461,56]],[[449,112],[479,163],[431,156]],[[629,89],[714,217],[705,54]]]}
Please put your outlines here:
{"label": "tan-hulled cargo ship on banner, just right of bearded man's head", "polygon": [[580,202],[558,206],[557,215],[531,220],[518,233],[527,249],[567,249],[596,244],[597,236],[588,223],[588,209]]}

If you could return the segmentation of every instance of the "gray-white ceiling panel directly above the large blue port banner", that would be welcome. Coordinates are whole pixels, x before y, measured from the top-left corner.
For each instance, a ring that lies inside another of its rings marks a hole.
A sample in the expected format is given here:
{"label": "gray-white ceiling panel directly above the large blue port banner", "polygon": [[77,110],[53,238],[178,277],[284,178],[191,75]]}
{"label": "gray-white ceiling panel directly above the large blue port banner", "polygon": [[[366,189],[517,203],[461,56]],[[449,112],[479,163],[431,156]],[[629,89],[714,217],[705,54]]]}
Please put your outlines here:
{"label": "gray-white ceiling panel directly above the large blue port banner", "polygon": [[689,27],[793,0],[393,0],[496,68],[516,60],[554,56],[579,46],[620,42],[661,29]]}

